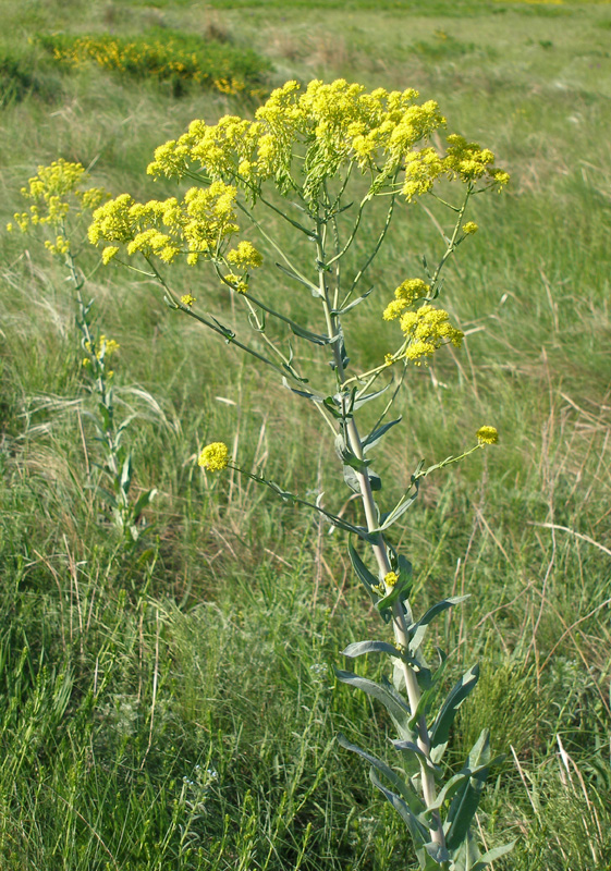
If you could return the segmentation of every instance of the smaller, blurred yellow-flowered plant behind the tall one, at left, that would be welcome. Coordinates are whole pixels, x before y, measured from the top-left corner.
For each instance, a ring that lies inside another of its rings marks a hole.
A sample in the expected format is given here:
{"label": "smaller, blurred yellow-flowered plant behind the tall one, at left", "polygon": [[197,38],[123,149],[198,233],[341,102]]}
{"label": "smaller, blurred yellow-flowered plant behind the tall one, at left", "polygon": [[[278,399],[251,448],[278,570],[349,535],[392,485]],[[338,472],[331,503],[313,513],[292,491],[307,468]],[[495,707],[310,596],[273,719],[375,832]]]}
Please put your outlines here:
{"label": "smaller, blurred yellow-flowered plant behind the tall one, at left", "polygon": [[[109,195],[99,187],[84,187],[87,173],[81,163],[59,159],[48,167],[38,167],[38,173],[29,179],[21,194],[28,209],[16,212],[8,224],[9,232],[15,229],[26,233],[32,229],[46,231],[51,238],[45,240],[45,247],[58,258],[68,271],[76,299],[76,323],[81,332],[83,352],[82,373],[85,391],[94,403],[86,414],[91,420],[97,441],[102,445],[103,459],[100,468],[109,487],[98,481],[96,491],[101,495],[114,526],[120,530],[123,541],[132,544],[140,536],[144,508],[155,498],[156,490],[142,493],[135,501],[130,489],[133,479],[132,452],[124,444],[126,429],[132,417],[119,422],[115,417],[114,371],[109,366],[110,358],[119,351],[119,343],[94,327],[94,300],[83,295],[86,277],[78,268],[74,250],[74,238],[78,224],[87,216],[90,219],[96,209]],[[81,225],[81,233],[83,226]],[[78,245],[82,245],[81,237]]]}

